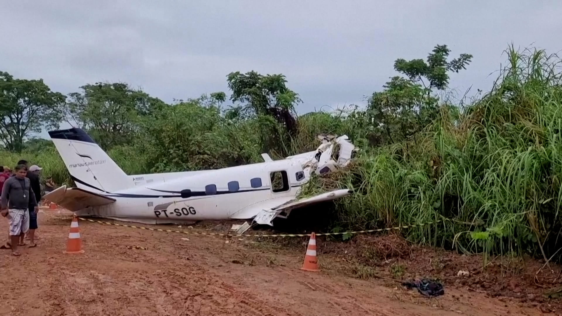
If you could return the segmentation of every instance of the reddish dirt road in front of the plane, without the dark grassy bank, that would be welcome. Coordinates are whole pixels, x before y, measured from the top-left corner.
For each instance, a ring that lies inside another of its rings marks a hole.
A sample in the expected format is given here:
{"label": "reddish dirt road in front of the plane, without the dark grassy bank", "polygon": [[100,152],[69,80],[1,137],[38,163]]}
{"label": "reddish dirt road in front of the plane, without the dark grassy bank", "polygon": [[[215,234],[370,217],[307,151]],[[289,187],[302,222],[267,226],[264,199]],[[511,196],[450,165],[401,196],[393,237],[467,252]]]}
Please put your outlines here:
{"label": "reddish dirt road in front of the plane, without the dark grassy bank", "polygon": [[237,239],[80,221],[85,253],[65,255],[70,220],[46,215],[37,248],[0,252],[0,315],[542,315],[455,288],[429,300],[329,267],[304,272],[304,252]]}

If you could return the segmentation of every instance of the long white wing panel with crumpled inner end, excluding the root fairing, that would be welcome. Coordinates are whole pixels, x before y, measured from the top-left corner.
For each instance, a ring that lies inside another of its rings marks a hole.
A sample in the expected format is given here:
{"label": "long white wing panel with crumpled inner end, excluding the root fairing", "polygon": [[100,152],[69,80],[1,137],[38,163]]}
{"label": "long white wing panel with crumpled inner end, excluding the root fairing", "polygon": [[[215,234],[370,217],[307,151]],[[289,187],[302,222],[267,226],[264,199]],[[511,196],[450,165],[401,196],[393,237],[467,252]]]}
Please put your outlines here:
{"label": "long white wing panel with crumpled inner end, excluding the root fairing", "polygon": [[291,200],[284,204],[271,208],[264,207],[260,211],[258,211],[253,221],[256,222],[257,224],[273,226],[273,224],[271,224],[271,221],[283,211],[290,211],[292,209],[297,209],[298,207],[303,207],[303,206],[324,202],[324,201],[335,200],[336,198],[340,198],[348,195],[351,195],[351,190],[339,189],[335,191],[322,193],[312,197],[302,198],[301,200]]}

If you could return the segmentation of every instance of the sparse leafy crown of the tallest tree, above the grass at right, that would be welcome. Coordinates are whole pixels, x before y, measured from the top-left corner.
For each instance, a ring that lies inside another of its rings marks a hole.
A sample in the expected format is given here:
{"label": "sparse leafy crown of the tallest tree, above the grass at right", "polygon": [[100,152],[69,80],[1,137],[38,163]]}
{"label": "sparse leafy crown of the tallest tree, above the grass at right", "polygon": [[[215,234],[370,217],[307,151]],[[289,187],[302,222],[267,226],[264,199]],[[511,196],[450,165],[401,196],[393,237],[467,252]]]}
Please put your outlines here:
{"label": "sparse leafy crown of the tallest tree, above the grass at right", "polygon": [[449,83],[448,71],[459,73],[459,70],[466,69],[472,61],[472,55],[463,53],[459,58],[447,62],[447,57],[451,52],[447,45],[437,45],[427,56],[427,62],[423,59],[413,59],[406,61],[398,58],[394,62],[394,69],[402,73],[413,82],[421,82],[427,93],[431,93],[432,88],[443,90]]}

